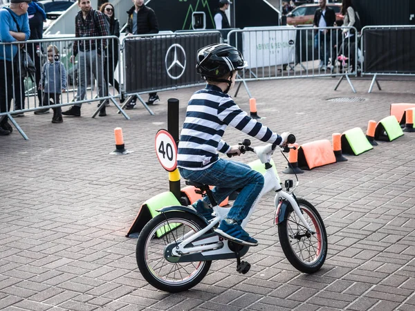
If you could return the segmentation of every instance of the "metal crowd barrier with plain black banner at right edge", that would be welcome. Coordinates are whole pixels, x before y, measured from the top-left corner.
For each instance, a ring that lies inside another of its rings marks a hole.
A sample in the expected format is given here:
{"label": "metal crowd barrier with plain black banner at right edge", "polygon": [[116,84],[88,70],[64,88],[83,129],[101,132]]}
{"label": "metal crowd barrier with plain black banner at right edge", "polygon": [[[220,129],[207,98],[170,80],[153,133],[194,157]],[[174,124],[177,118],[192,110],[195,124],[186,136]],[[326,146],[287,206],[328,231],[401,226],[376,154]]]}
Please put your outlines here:
{"label": "metal crowd barrier with plain black banner at right edge", "polygon": [[378,75],[415,75],[415,26],[365,26],[361,50],[365,62],[362,75],[374,75],[371,93]]}

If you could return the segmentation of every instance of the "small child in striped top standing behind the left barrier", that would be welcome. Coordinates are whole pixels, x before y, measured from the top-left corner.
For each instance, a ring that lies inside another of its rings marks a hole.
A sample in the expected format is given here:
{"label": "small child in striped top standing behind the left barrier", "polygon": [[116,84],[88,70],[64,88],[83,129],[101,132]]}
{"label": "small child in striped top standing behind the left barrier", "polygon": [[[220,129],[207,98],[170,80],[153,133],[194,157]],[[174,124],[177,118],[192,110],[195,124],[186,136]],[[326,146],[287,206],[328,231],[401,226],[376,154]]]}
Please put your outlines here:
{"label": "small child in striped top standing behind the left barrier", "polygon": [[[59,50],[48,46],[48,62],[43,66],[39,89],[44,92],[43,106],[60,104],[60,95],[66,90],[66,69],[59,61]],[[52,123],[62,123],[62,108],[53,108]]]}

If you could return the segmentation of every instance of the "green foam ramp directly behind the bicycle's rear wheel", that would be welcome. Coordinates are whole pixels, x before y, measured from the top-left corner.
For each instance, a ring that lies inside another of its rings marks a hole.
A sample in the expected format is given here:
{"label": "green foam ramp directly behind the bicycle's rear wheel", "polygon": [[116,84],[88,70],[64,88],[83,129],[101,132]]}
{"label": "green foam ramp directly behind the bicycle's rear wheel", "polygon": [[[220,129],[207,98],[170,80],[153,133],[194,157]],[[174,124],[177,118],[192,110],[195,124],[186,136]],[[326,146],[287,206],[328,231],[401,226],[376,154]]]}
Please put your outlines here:
{"label": "green foam ramp directly behind the bicycle's rear wheel", "polygon": [[[172,194],[170,191],[163,192],[161,194],[157,194],[156,196],[149,198],[146,200],[140,207],[136,219],[131,225],[129,231],[127,232],[128,237],[137,237],[138,233],[141,232],[142,228],[151,220],[157,216],[158,211],[157,209],[161,209],[163,207],[172,206],[172,205],[181,205],[178,202],[177,198]],[[161,231],[160,231],[161,230]],[[164,233],[163,228],[161,228],[157,232],[157,236],[161,236]]]}

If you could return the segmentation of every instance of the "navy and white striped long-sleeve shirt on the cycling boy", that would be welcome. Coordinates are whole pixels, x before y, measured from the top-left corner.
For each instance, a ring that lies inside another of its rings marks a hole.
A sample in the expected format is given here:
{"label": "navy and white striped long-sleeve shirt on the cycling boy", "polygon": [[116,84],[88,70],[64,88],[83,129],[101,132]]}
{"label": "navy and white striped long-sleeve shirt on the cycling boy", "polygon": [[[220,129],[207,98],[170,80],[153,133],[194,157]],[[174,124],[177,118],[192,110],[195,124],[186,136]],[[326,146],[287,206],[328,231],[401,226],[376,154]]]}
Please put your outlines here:
{"label": "navy and white striped long-sleeve shirt on the cycling boy", "polygon": [[187,105],[178,143],[178,167],[206,169],[219,159],[218,151],[227,153],[230,146],[222,137],[228,125],[263,142],[282,142],[281,136],[248,116],[219,87],[208,84],[194,93]]}

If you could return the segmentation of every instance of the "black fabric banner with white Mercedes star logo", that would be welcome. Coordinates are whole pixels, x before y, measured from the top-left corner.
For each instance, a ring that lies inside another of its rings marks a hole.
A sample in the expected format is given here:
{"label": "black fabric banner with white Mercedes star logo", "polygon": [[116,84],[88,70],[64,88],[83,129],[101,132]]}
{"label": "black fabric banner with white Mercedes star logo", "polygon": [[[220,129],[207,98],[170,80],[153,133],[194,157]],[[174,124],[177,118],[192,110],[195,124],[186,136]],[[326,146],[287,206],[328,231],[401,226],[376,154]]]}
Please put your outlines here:
{"label": "black fabric banner with white Mercedes star logo", "polygon": [[203,82],[196,73],[196,53],[219,43],[219,33],[136,37],[124,40],[126,93],[178,88]]}

